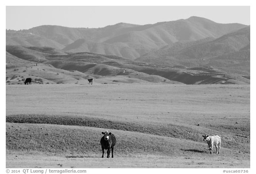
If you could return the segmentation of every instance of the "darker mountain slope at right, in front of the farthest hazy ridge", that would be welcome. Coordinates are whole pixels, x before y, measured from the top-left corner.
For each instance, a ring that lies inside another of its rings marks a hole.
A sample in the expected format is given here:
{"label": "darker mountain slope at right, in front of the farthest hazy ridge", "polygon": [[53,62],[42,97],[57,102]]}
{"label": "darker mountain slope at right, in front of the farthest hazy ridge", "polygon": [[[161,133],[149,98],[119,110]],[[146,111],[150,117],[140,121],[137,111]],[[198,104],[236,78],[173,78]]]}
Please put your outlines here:
{"label": "darker mountain slope at right, in front of the farthest hazy ridge", "polygon": [[144,54],[136,61],[172,66],[212,66],[228,73],[250,75],[250,27],[217,39],[177,42]]}

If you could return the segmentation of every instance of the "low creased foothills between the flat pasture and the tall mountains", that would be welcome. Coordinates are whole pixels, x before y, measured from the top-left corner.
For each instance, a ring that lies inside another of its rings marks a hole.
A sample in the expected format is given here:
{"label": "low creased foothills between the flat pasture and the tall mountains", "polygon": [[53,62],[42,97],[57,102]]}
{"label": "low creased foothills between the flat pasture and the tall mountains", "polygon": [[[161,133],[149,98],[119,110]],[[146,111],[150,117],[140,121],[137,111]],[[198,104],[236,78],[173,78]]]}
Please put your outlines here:
{"label": "low creased foothills between the flat pasture and the tall mountains", "polygon": [[[213,67],[163,66],[111,55],[64,53],[49,47],[6,46],[6,51],[8,84],[19,83],[21,74],[32,79],[40,77],[48,83],[86,83],[87,78],[92,77],[99,83],[109,83],[110,79],[111,83],[250,83],[239,74],[228,74]],[[21,63],[17,64],[11,58]]]}

